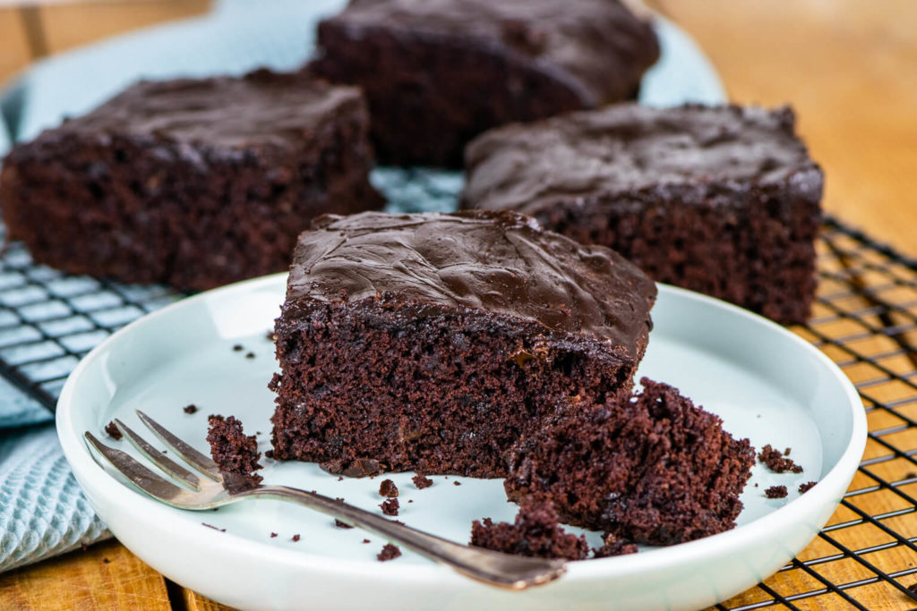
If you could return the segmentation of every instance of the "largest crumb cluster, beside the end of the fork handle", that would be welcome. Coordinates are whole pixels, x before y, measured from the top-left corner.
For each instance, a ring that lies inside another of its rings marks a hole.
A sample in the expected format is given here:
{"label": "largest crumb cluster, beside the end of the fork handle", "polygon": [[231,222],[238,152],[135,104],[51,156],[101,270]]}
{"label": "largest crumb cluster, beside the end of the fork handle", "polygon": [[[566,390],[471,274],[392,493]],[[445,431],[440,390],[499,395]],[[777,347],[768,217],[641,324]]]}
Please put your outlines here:
{"label": "largest crumb cluster, beside the end of the fork handle", "polygon": [[583,560],[589,554],[586,538],[562,529],[550,503],[523,502],[513,524],[476,519],[471,523],[470,543],[485,550],[538,558]]}

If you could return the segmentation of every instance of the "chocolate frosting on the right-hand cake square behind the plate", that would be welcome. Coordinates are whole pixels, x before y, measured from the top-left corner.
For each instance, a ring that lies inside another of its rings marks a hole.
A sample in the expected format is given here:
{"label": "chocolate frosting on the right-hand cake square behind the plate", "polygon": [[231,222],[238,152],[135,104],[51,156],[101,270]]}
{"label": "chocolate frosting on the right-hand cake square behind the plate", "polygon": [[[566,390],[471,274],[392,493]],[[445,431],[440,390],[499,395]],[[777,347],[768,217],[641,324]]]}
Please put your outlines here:
{"label": "chocolate frosting on the right-hand cake square behind the plate", "polygon": [[535,214],[596,194],[797,179],[820,191],[821,172],[794,124],[788,107],[618,104],[508,125],[466,149],[464,204]]}

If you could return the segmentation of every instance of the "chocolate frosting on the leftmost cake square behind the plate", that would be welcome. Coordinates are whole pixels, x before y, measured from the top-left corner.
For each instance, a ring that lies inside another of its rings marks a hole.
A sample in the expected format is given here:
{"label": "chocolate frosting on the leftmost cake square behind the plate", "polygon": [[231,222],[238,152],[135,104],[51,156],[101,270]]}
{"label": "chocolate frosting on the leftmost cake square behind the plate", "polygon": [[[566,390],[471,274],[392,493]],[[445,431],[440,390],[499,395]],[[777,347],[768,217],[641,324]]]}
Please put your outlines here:
{"label": "chocolate frosting on the leftmost cake square behind the plate", "polygon": [[[300,148],[328,117],[363,106],[356,87],[268,70],[141,81],[55,132],[150,136],[224,148]],[[365,112],[365,111],[363,111]]]}

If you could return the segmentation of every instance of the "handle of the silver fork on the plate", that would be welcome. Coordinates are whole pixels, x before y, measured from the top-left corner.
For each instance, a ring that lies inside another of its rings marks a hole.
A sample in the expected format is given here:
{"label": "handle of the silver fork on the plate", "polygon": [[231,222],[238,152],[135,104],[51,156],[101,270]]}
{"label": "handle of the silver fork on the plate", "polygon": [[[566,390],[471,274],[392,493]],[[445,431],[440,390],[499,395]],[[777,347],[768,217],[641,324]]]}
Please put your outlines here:
{"label": "handle of the silver fork on the plate", "polygon": [[472,548],[412,529],[329,496],[298,488],[259,486],[233,496],[262,496],[297,502],[399,543],[430,560],[446,564],[458,573],[504,588],[522,590],[532,585],[547,584],[567,571],[566,562],[561,559],[528,558]]}

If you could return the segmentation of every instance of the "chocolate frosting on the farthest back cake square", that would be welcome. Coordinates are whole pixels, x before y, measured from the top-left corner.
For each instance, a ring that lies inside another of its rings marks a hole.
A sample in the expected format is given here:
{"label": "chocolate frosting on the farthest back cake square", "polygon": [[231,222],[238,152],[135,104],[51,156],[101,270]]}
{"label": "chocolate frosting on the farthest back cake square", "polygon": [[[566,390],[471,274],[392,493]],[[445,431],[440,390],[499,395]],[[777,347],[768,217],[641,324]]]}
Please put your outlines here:
{"label": "chocolate frosting on the farthest back cake square", "polygon": [[526,61],[584,106],[623,100],[659,57],[652,27],[617,0],[352,0],[328,21],[356,31],[444,38]]}

